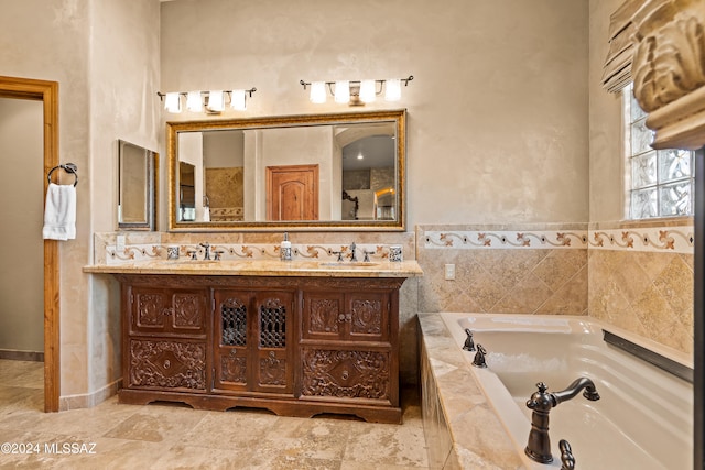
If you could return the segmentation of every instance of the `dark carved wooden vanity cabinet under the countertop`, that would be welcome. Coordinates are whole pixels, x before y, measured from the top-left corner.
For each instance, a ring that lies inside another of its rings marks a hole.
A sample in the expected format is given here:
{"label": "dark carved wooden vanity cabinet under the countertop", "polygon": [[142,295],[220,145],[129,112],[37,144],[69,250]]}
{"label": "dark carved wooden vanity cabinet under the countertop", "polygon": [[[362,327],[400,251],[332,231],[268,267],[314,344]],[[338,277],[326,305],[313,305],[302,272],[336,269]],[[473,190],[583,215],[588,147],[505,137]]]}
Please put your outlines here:
{"label": "dark carved wooden vanity cabinet under the countertop", "polygon": [[401,422],[404,277],[115,275],[121,403]]}

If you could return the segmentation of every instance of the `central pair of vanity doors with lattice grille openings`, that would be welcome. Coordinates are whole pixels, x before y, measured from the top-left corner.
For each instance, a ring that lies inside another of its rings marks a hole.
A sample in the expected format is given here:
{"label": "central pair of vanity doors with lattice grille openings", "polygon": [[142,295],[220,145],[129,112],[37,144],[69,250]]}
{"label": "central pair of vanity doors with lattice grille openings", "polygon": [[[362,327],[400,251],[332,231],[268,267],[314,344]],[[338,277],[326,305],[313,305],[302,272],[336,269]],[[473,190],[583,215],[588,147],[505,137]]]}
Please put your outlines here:
{"label": "central pair of vanity doors with lattice grille openings", "polygon": [[221,391],[293,393],[294,293],[215,292],[215,383]]}

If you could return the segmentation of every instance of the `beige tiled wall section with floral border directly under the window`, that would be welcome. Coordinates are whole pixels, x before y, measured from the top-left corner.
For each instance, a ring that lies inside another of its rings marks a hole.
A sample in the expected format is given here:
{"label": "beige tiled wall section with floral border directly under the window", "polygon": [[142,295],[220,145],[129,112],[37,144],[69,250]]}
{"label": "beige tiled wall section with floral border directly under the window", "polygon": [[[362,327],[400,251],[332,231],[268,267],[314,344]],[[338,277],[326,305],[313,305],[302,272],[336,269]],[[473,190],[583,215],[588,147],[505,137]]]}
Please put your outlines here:
{"label": "beige tiled wall section with floral border directly under the window", "polygon": [[692,354],[693,226],[649,225],[592,227],[615,240],[588,250],[589,315]]}

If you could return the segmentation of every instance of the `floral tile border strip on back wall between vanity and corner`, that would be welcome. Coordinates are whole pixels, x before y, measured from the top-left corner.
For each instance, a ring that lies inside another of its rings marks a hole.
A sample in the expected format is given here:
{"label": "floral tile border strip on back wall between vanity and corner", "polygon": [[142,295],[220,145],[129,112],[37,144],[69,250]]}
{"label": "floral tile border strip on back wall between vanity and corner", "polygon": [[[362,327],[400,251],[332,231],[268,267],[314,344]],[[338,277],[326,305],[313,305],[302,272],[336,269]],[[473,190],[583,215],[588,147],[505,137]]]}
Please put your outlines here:
{"label": "floral tile border strip on back wall between vanity and corner", "polygon": [[426,249],[585,249],[587,231],[426,231]]}

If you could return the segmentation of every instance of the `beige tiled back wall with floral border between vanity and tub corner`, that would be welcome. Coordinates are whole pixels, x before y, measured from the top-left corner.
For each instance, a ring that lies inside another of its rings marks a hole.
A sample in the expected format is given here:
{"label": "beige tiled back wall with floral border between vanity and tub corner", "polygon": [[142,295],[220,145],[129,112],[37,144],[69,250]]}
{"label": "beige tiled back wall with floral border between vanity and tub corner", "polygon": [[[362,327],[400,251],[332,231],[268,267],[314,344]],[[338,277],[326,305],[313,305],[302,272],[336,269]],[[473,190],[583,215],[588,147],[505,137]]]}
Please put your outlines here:
{"label": "beige tiled back wall with floral border between vanity and tub corner", "polygon": [[[586,315],[586,229],[420,226],[419,311]],[[445,264],[455,264],[454,281]]]}

